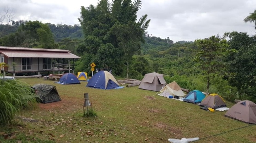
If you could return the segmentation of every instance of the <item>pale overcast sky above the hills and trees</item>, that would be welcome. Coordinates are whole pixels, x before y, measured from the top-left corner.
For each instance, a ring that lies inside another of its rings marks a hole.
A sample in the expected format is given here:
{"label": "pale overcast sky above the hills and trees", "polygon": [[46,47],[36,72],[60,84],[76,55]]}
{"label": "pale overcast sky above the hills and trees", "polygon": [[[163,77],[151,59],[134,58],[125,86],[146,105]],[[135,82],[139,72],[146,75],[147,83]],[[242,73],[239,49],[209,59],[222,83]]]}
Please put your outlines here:
{"label": "pale overcast sky above the hills and trees", "polygon": [[[0,0],[0,10],[8,7],[14,20],[43,23],[79,24],[81,6],[97,5],[98,0]],[[109,0],[111,1],[111,0]],[[138,19],[148,14],[147,29],[152,36],[194,41],[225,32],[255,34],[254,24],[244,18],[256,9],[256,0],[141,0]]]}

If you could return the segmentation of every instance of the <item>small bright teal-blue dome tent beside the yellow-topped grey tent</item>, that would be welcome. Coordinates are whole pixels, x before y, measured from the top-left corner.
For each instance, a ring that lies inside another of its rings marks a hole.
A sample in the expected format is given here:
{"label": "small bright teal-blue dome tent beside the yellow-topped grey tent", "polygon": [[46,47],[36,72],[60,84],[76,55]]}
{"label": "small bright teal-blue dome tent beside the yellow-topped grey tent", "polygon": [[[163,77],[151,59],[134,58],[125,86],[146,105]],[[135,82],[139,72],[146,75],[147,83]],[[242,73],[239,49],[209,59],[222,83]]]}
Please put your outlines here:
{"label": "small bright teal-blue dome tent beside the yellow-topped grey tent", "polygon": [[188,103],[198,104],[198,103],[201,103],[204,98],[205,98],[205,95],[201,91],[193,90],[185,96],[183,101]]}

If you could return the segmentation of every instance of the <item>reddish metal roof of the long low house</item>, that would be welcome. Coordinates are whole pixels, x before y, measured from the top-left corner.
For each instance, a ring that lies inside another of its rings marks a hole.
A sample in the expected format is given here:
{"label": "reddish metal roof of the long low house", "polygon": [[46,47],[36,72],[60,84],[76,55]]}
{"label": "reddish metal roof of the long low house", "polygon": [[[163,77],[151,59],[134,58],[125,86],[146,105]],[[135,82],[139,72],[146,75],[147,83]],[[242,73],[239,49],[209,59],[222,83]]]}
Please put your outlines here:
{"label": "reddish metal roof of the long low house", "polygon": [[69,50],[1,47],[0,53],[6,57],[21,58],[80,58]]}

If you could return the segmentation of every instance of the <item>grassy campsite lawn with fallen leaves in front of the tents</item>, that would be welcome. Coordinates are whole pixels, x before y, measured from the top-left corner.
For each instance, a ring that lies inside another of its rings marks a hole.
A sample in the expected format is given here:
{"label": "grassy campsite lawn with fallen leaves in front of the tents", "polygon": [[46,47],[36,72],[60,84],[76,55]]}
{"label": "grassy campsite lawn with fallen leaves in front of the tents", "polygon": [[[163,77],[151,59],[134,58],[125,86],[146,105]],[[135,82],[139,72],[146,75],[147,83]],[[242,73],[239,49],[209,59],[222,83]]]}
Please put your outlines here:
{"label": "grassy campsite lawn with fallen leaves in front of the tents", "polygon": [[[248,124],[205,111],[198,105],[155,95],[138,86],[118,90],[86,87],[87,82],[61,85],[43,79],[21,79],[30,85],[55,85],[61,102],[38,104],[21,111],[13,126],[1,127],[0,142],[167,143],[168,138],[205,138]],[[97,117],[83,117],[84,93]],[[232,104],[228,103],[228,107]],[[38,122],[24,122],[33,118]],[[4,140],[3,134],[13,133]],[[196,143],[255,143],[256,126],[217,135]]]}

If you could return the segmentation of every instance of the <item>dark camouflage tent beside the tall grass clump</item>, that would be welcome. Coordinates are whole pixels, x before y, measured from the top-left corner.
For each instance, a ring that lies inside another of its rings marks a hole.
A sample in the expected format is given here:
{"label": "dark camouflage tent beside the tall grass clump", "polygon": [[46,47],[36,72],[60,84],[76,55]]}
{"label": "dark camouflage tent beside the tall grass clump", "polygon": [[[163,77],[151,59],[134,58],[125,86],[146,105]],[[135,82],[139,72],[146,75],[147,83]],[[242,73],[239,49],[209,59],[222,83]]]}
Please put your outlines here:
{"label": "dark camouflage tent beside the tall grass clump", "polygon": [[60,101],[61,98],[58,95],[56,86],[49,84],[35,84],[32,86],[35,90],[35,94],[37,95],[37,100],[40,103],[50,103]]}

